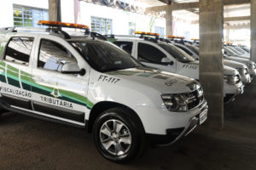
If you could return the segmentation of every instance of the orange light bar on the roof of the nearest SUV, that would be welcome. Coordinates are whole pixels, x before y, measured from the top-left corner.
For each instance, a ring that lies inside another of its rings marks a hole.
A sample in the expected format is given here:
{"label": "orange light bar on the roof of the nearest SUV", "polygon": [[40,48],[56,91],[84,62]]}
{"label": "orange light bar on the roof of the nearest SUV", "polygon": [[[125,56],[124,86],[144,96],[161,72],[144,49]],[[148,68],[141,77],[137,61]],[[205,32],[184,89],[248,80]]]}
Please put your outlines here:
{"label": "orange light bar on the roof of the nearest SUV", "polygon": [[39,20],[38,25],[41,26],[54,26],[54,27],[67,27],[67,28],[79,28],[88,30],[89,26],[80,25],[80,24],[72,24],[67,22],[58,22],[58,21],[49,21],[49,20]]}

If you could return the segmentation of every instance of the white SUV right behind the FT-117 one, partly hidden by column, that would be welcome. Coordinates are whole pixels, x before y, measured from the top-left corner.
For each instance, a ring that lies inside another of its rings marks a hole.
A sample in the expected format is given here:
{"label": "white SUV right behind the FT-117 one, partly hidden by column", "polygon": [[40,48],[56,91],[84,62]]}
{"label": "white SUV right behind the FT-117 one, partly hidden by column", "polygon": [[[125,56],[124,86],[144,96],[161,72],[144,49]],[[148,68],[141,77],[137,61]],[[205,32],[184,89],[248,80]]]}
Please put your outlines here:
{"label": "white SUV right behind the FT-117 one, partly hidden by column", "polygon": [[[199,80],[199,61],[193,59],[180,48],[159,41],[159,38],[131,36],[109,36],[111,42],[124,49],[143,65],[170,71]],[[244,85],[236,69],[224,66],[224,100],[228,103],[237,94],[243,93]]]}

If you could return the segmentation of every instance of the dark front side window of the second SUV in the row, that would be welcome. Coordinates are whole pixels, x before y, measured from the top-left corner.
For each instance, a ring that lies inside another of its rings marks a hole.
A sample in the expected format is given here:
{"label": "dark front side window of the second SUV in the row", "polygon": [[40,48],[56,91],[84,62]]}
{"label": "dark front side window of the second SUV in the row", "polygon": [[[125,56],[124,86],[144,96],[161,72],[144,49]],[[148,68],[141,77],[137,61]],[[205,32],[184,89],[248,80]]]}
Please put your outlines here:
{"label": "dark front side window of the second SUV in the row", "polygon": [[166,54],[162,53],[158,48],[146,43],[138,43],[139,61],[161,64],[163,58],[166,58]]}

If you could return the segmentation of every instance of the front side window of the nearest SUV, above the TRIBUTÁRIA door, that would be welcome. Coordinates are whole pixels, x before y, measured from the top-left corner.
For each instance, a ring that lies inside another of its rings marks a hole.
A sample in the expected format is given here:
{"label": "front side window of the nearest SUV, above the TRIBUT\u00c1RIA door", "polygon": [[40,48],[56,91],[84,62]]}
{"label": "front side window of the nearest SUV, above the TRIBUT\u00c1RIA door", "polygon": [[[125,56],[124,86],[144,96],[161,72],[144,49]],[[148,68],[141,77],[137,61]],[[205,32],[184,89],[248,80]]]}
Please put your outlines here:
{"label": "front side window of the nearest SUV, above the TRIBUT\u00c1RIA door", "polygon": [[66,62],[77,63],[77,60],[61,44],[50,40],[41,40],[38,67],[51,71],[61,71],[62,65]]}

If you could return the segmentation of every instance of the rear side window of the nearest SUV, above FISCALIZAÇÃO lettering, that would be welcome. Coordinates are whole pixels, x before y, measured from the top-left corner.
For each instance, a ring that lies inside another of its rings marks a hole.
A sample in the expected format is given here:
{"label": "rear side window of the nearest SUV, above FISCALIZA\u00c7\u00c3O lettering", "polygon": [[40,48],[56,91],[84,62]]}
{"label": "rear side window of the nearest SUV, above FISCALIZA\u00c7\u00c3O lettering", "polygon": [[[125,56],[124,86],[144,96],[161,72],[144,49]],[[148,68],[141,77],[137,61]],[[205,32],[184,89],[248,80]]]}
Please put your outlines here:
{"label": "rear side window of the nearest SUV, above FISCALIZA\u00c7\u00c3O lettering", "polygon": [[28,65],[34,38],[12,37],[6,48],[4,59],[21,65]]}

